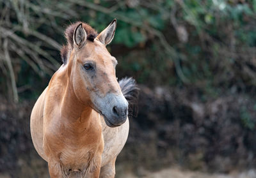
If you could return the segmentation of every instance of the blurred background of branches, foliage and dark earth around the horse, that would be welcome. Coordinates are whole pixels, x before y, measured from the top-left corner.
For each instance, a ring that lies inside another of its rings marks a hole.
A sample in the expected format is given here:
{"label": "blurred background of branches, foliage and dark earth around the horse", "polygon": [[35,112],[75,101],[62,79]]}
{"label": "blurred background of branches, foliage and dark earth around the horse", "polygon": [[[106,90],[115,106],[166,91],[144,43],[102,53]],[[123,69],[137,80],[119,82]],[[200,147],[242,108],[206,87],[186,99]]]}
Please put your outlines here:
{"label": "blurred background of branches, foliage and dark earth around the horse", "polygon": [[0,0],[0,177],[49,177],[31,109],[65,27],[114,18],[116,75],[141,89],[116,177],[256,177],[255,0]]}

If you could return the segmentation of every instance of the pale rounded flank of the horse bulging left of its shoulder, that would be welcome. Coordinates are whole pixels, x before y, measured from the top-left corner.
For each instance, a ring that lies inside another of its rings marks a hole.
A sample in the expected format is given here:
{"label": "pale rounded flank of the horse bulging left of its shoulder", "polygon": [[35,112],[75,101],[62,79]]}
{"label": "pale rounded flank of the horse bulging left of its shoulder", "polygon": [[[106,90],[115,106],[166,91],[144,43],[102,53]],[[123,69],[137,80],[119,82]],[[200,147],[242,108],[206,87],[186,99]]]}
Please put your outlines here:
{"label": "pale rounded flank of the horse bulging left of its shoulder", "polygon": [[43,149],[43,133],[44,133],[44,104],[45,94],[47,87],[44,92],[40,95],[36,101],[30,118],[30,130],[33,144],[38,154],[47,161],[47,157],[44,154]]}

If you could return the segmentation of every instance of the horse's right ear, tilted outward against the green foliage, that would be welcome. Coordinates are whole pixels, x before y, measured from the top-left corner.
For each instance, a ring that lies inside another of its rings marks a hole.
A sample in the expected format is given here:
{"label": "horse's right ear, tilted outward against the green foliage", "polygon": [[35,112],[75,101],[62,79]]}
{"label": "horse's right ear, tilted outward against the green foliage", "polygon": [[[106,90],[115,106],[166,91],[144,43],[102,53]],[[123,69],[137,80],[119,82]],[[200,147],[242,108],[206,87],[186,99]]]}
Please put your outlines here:
{"label": "horse's right ear, tilted outward against the green foliage", "polygon": [[114,19],[106,29],[104,29],[98,36],[97,39],[104,45],[108,45],[114,38],[116,31],[116,19]]}

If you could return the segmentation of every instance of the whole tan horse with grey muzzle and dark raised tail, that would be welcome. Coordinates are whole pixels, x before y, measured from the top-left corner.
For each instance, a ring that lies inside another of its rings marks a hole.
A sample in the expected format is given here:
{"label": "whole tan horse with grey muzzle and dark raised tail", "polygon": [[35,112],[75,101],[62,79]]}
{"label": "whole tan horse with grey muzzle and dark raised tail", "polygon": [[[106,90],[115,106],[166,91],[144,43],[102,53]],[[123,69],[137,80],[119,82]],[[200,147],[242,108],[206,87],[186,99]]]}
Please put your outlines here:
{"label": "whole tan horse with grey muzzle and dark raised tail", "polygon": [[108,52],[116,19],[100,34],[84,22],[67,27],[63,64],[31,112],[31,138],[51,178],[115,177],[116,156],[129,133],[127,115],[138,99],[133,78],[117,81]]}

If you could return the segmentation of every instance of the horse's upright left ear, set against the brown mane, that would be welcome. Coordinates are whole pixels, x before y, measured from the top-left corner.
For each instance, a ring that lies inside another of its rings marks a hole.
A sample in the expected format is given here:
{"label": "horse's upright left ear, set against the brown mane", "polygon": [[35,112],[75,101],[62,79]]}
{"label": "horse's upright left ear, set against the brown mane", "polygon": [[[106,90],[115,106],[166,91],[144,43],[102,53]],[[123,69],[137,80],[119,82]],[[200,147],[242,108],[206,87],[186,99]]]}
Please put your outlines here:
{"label": "horse's upright left ear, set against the brown mane", "polygon": [[86,44],[86,32],[84,31],[83,24],[79,24],[75,31],[73,36],[74,46],[81,48],[83,45]]}

